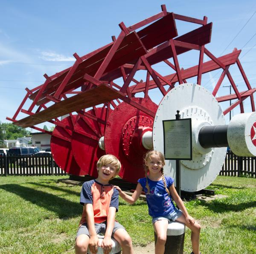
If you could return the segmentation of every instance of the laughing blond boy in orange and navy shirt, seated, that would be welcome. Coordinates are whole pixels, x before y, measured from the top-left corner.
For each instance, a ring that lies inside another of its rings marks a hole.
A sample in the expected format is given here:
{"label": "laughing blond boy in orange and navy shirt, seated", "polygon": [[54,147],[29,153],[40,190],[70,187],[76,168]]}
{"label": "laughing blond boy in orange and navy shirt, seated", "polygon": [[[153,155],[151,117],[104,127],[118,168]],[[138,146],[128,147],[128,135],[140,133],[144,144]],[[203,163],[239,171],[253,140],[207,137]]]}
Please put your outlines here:
{"label": "laughing blond boy in orange and navy shirt, seated", "polygon": [[76,234],[76,254],[87,253],[88,246],[90,251],[96,254],[99,232],[105,233],[101,246],[104,254],[111,251],[111,235],[121,245],[123,254],[133,254],[131,237],[125,228],[115,221],[119,192],[108,183],[120,169],[121,163],[116,156],[104,155],[97,162],[98,178],[84,182],[80,196],[80,204],[84,205],[84,208]]}

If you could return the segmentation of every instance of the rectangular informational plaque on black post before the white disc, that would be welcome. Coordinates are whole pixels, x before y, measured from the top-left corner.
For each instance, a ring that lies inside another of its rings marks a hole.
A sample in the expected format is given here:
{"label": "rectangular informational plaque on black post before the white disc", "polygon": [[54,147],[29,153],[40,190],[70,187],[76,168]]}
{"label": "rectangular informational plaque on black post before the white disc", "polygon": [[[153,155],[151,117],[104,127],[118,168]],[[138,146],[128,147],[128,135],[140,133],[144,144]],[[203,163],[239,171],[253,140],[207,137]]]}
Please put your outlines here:
{"label": "rectangular informational plaque on black post before the white disc", "polygon": [[163,120],[164,156],[169,160],[192,160],[191,118]]}

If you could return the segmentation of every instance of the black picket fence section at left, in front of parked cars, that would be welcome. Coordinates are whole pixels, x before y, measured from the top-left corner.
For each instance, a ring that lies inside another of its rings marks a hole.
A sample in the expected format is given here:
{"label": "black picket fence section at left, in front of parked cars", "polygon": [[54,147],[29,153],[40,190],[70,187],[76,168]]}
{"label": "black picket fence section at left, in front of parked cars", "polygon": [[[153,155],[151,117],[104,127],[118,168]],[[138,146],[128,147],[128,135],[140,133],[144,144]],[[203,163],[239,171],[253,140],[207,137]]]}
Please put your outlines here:
{"label": "black picket fence section at left, in front of parked cars", "polygon": [[1,176],[62,176],[67,175],[54,162],[51,155],[44,156],[1,156]]}

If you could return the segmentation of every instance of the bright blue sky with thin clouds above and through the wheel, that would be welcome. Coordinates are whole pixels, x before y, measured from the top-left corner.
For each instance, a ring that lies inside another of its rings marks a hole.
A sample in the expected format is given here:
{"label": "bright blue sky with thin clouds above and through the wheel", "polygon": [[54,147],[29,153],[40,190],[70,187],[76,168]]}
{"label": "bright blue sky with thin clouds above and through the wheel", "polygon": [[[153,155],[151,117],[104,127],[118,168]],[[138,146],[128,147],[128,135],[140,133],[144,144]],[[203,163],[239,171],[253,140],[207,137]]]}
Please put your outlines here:
{"label": "bright blue sky with thin clouds above and through the wheel", "polygon": [[[122,21],[131,26],[161,11],[166,4],[168,12],[213,22],[211,43],[207,49],[219,57],[242,49],[239,57],[252,87],[256,87],[256,2],[238,1],[18,1],[0,2],[0,121],[8,122],[24,98],[28,87],[32,89],[44,83],[44,73],[53,75],[74,62],[73,54],[82,56],[111,42],[111,36],[120,33]],[[178,21],[178,35],[198,26]],[[233,40],[233,42],[232,42]],[[231,43],[232,42],[232,43]],[[204,61],[208,58],[205,57]],[[179,58],[184,68],[198,63],[198,52]],[[169,74],[162,64],[155,66],[161,74]],[[230,68],[239,91],[246,89],[236,67]],[[202,85],[212,91],[221,72],[205,74]],[[225,79],[222,86],[230,83]],[[221,87],[218,96],[229,94],[228,87]],[[153,96],[159,102],[160,97]],[[31,103],[31,102],[29,102]],[[25,109],[29,104],[25,105]],[[227,105],[222,107],[226,108]],[[244,109],[250,112],[250,101],[244,101]],[[239,113],[234,110],[234,114]],[[25,117],[20,114],[18,119]],[[42,125],[40,125],[41,127]],[[47,126],[51,124],[47,123]]]}

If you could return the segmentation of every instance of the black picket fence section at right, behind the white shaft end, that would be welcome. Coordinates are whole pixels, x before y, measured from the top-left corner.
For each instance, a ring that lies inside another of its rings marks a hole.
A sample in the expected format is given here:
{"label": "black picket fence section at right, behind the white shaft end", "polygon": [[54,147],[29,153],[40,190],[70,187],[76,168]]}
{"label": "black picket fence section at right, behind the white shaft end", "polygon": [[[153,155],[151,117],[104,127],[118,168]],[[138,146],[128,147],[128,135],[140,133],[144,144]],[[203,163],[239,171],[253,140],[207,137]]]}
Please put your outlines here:
{"label": "black picket fence section at right, behind the white shaft end", "polygon": [[227,156],[220,171],[220,176],[256,177],[256,157],[239,157],[227,151]]}

